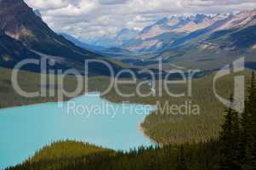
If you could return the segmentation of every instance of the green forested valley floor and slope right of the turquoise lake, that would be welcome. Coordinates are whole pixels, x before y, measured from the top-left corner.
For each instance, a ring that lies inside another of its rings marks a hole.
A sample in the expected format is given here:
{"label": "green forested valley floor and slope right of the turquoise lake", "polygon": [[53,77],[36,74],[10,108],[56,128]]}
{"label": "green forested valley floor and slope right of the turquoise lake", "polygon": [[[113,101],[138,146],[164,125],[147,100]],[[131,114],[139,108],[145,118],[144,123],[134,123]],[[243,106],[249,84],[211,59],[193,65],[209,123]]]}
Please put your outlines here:
{"label": "green forested valley floor and slope right of the turquoise lake", "polygon": [[[104,96],[113,102],[122,102],[122,100],[139,104],[156,105],[157,102],[162,110],[164,105],[185,105],[185,102],[191,102],[191,105],[199,105],[200,115],[174,115],[166,111],[152,113],[145,118],[141,125],[145,133],[160,144],[202,142],[209,139],[216,139],[219,136],[220,124],[223,122],[223,109],[225,105],[221,104],[213,94],[213,77],[215,73],[210,73],[204,77],[193,79],[192,97],[172,98],[164,91],[162,97],[140,98],[138,95],[128,99],[120,98],[114,90]],[[250,71],[244,71],[238,75],[244,75],[246,82],[250,77]],[[220,78],[216,83],[217,93],[228,99],[233,92],[233,76]],[[163,85],[160,85],[161,87]],[[120,87],[122,92],[134,92],[136,88],[132,85]],[[159,93],[159,86],[156,86],[156,94]],[[168,89],[177,94],[184,92],[185,85],[169,85]],[[150,88],[145,86],[143,89],[149,92]],[[209,108],[211,108],[209,110]]]}

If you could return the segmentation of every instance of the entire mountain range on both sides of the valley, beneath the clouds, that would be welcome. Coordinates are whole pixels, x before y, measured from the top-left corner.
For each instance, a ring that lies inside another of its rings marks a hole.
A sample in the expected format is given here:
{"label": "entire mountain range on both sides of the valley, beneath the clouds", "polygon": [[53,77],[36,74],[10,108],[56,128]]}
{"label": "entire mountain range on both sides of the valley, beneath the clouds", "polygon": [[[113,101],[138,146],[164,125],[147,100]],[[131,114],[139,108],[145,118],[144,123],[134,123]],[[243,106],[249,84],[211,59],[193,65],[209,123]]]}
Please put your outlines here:
{"label": "entire mountain range on both sides of the valley, beneath the clouds", "polygon": [[[171,16],[141,31],[123,28],[92,44],[55,33],[44,23],[40,11],[23,0],[2,0],[0,66],[13,67],[26,58],[47,58],[54,59],[57,68],[83,71],[85,59],[101,59],[120,70],[117,62],[105,56],[121,56],[122,61],[136,66],[155,65],[157,59],[163,59],[165,65],[213,70],[241,56],[247,63],[255,63],[255,30],[256,9],[237,14]],[[101,67],[93,65],[90,73],[108,75]]]}

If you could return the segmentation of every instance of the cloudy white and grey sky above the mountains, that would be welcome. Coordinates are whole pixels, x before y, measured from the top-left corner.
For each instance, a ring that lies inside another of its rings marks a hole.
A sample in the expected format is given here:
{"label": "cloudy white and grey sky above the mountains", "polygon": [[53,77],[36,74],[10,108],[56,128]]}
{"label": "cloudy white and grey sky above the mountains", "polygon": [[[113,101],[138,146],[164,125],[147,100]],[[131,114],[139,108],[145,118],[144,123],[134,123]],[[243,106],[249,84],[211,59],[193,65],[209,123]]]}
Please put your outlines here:
{"label": "cloudy white and grey sky above the mountains", "polygon": [[81,40],[141,29],[172,14],[217,14],[252,9],[256,0],[25,0],[58,32]]}

